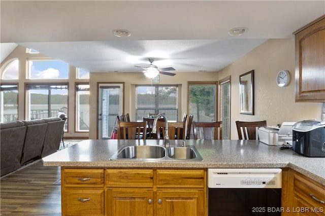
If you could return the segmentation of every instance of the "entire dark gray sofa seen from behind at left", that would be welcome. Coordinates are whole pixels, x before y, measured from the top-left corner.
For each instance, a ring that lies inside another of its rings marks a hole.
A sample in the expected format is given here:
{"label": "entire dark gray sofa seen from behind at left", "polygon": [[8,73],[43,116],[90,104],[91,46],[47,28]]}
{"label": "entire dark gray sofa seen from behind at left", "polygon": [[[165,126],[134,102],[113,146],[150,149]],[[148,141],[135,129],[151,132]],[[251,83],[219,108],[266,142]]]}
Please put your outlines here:
{"label": "entire dark gray sofa seen from behind at left", "polygon": [[56,152],[65,122],[51,117],[1,123],[1,176]]}

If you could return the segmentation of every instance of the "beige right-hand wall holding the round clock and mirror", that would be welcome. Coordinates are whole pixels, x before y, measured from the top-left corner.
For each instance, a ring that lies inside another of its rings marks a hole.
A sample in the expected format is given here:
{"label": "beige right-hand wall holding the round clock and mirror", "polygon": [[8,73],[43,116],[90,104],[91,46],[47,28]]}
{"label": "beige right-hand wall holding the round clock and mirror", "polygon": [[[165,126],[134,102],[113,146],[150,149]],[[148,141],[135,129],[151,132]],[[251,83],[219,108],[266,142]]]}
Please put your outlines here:
{"label": "beige right-hand wall holding the round clock and mirror", "polygon": [[[239,75],[254,70],[255,115],[239,114]],[[288,86],[278,87],[276,75],[288,70]],[[295,40],[268,40],[219,71],[231,75],[231,139],[238,139],[236,120],[267,120],[268,125],[307,119],[321,120],[321,103],[295,102]]]}

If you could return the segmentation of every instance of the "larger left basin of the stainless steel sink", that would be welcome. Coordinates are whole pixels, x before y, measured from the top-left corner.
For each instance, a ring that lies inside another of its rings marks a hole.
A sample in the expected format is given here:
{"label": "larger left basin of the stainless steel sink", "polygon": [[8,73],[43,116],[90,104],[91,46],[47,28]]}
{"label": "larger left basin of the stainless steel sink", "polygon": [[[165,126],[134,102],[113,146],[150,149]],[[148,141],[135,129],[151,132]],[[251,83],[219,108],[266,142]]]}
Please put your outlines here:
{"label": "larger left basin of the stainless steel sink", "polygon": [[121,148],[116,159],[154,159],[166,156],[166,149],[161,146],[128,146]]}

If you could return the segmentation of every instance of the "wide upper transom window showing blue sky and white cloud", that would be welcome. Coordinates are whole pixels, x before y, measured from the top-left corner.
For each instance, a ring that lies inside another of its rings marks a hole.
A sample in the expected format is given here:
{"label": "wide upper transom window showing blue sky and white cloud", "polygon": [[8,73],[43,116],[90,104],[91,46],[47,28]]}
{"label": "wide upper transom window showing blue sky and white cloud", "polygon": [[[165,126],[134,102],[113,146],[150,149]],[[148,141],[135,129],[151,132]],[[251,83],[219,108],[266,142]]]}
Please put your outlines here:
{"label": "wide upper transom window showing blue sky and white cloud", "polygon": [[68,79],[69,64],[60,60],[28,60],[28,79]]}

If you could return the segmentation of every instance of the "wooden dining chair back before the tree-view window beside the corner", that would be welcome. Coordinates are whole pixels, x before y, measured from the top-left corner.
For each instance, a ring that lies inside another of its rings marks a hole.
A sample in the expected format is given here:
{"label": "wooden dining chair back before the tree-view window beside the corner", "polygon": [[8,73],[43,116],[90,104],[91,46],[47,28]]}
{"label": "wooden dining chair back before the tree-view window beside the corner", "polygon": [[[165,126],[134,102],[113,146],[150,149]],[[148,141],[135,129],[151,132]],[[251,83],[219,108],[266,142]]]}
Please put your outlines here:
{"label": "wooden dining chair back before the tree-view window beside the corner", "polygon": [[194,139],[222,139],[222,122],[192,122]]}

